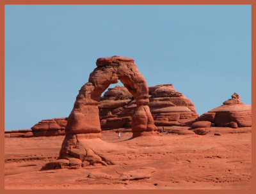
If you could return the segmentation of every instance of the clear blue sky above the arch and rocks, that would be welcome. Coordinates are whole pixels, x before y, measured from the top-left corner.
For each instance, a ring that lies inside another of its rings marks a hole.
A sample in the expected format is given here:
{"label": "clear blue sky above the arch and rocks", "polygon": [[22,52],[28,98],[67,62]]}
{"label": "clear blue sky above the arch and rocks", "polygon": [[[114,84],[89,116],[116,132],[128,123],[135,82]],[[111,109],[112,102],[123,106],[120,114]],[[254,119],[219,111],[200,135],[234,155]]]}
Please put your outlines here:
{"label": "clear blue sky above the arch and rocks", "polygon": [[251,14],[250,5],[6,5],[5,130],[68,117],[97,58],[115,55],[134,59],[148,86],[173,84],[200,115],[234,92],[251,104]]}

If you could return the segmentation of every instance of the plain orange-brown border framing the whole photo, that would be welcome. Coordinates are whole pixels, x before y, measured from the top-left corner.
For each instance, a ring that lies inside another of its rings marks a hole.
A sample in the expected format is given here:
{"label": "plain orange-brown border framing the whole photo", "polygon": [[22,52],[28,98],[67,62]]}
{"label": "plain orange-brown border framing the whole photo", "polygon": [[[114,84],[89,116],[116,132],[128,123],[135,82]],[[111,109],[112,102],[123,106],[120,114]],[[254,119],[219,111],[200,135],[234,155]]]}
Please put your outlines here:
{"label": "plain orange-brown border framing the whole photo", "polygon": [[[256,126],[256,0],[0,0],[0,154],[3,156],[0,160],[0,192],[1,193],[44,193],[45,190],[4,190],[4,6],[6,4],[251,4],[252,6],[252,187],[250,190],[47,190],[47,193],[84,193],[86,191],[91,193],[256,193],[255,182],[255,126]],[[243,64],[241,64],[243,65]],[[29,183],[28,183],[29,184]]]}

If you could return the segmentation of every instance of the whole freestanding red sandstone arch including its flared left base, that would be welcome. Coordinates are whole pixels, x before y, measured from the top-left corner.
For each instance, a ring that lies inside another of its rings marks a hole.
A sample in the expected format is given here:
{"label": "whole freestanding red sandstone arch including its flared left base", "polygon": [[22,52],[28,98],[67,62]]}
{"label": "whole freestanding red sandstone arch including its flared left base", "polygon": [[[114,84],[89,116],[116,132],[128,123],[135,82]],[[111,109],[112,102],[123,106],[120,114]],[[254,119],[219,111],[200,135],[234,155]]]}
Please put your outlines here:
{"label": "whole freestanding red sandstone arch including its flared left base", "polygon": [[97,68],[90,73],[88,82],[79,90],[74,108],[68,116],[65,128],[67,135],[61,146],[59,160],[47,163],[42,170],[113,163],[93,148],[93,141],[96,144],[103,142],[100,140],[100,95],[118,80],[121,80],[136,100],[137,108],[132,116],[132,137],[156,133],[157,128],[148,107],[148,86],[134,60],[113,56],[99,58],[96,64]]}

